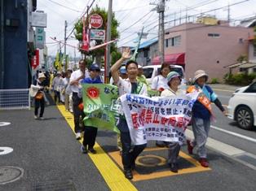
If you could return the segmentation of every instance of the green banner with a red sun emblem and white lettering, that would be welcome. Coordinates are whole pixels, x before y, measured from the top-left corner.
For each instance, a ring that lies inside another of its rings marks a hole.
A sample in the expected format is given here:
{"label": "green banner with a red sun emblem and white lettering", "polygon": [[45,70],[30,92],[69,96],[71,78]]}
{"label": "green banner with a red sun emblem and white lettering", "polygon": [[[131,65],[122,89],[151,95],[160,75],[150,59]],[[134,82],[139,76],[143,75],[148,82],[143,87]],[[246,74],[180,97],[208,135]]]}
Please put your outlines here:
{"label": "green banner with a red sun emblem and white lettering", "polygon": [[116,127],[121,103],[117,102],[115,85],[82,84],[82,100],[86,126],[119,132]]}

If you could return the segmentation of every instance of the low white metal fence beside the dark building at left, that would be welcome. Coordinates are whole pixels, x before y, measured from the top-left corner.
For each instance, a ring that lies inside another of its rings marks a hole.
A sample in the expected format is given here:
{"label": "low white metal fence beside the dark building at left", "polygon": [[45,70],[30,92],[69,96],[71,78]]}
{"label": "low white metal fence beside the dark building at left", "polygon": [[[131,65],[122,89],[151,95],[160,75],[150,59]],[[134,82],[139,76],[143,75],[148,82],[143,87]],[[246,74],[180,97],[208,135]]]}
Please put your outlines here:
{"label": "low white metal fence beside the dark building at left", "polygon": [[0,110],[30,109],[29,89],[0,89]]}

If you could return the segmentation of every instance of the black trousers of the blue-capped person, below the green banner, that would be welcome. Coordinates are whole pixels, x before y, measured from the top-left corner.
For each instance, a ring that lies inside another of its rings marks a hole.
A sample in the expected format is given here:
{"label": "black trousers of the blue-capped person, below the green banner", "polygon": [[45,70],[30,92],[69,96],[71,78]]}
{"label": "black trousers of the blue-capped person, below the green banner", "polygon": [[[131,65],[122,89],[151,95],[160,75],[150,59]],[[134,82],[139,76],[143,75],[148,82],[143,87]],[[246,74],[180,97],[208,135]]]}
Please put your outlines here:
{"label": "black trousers of the blue-capped person, below the green banner", "polygon": [[97,132],[98,132],[98,128],[86,126],[82,145],[84,145],[86,148],[87,148],[87,145],[88,145],[88,148],[93,148],[95,145]]}

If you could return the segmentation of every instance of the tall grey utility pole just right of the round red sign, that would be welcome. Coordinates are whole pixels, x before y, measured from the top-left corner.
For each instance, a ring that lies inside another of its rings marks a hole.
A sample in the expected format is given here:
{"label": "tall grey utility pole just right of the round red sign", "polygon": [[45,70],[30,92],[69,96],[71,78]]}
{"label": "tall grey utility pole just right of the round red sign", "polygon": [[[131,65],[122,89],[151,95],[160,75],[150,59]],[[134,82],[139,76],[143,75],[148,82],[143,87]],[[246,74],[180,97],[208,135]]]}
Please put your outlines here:
{"label": "tall grey utility pole just right of the round red sign", "polygon": [[[112,24],[112,4],[113,0],[108,0],[108,24],[107,24],[107,41],[111,41],[111,24]],[[110,70],[110,44],[106,46],[106,60],[105,60],[105,83],[109,80],[109,70]]]}

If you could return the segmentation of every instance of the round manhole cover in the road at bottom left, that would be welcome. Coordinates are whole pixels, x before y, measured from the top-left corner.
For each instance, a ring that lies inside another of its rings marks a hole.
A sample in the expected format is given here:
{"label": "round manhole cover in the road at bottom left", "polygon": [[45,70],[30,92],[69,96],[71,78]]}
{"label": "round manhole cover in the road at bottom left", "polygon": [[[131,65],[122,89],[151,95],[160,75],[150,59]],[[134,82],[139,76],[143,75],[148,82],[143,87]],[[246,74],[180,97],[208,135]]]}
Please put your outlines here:
{"label": "round manhole cover in the road at bottom left", "polygon": [[0,167],[0,184],[7,184],[19,180],[24,170],[20,167]]}

